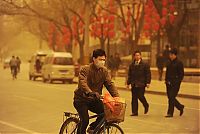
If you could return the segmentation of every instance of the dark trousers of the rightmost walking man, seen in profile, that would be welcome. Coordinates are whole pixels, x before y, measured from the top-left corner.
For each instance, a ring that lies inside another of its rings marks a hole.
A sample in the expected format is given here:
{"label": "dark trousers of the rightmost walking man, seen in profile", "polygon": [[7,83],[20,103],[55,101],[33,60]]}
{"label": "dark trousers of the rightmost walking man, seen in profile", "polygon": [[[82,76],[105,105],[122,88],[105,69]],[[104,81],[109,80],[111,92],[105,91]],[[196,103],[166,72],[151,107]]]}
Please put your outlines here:
{"label": "dark trousers of the rightmost walking man, seen in profile", "polygon": [[176,99],[180,89],[180,82],[166,84],[167,87],[167,97],[168,97],[168,111],[167,114],[173,115],[174,107],[178,110],[182,110],[183,105]]}

